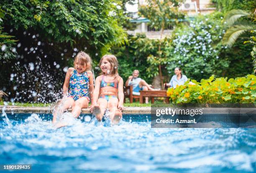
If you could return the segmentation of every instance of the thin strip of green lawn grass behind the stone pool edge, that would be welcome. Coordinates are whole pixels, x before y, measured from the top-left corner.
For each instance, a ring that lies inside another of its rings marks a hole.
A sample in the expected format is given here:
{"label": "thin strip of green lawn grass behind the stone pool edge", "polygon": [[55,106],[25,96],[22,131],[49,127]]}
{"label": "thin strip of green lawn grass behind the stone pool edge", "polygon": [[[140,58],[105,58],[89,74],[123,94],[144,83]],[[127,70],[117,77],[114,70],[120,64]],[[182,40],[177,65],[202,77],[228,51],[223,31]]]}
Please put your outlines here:
{"label": "thin strip of green lawn grass behind the stone pool edge", "polygon": [[[7,102],[8,105],[15,105],[15,106],[22,106],[22,107],[46,107],[51,106],[53,103],[11,103]],[[3,101],[0,101],[0,105],[4,105]],[[90,104],[89,104],[90,105]],[[139,102],[133,102],[133,103],[124,103],[125,107],[146,107],[151,106],[151,103],[139,103]]]}

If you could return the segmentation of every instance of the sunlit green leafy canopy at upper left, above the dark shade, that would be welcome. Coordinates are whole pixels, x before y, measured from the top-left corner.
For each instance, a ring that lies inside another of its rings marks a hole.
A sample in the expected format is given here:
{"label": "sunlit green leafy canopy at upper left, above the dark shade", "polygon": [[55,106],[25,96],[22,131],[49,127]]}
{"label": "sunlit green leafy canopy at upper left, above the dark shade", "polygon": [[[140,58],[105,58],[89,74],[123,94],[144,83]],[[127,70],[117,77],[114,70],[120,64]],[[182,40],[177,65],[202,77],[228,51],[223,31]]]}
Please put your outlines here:
{"label": "sunlit green leafy canopy at upper left, above the dark shade", "polygon": [[[2,0],[0,6],[7,15],[3,26],[18,40],[23,32],[39,34],[46,50],[52,56],[72,57],[73,49],[87,53],[108,50],[111,45],[123,44],[126,38],[122,28],[123,11],[118,0]],[[120,25],[121,24],[121,25]],[[26,35],[26,34],[25,34]],[[25,38],[26,41],[27,38]],[[32,46],[32,45],[31,45]],[[67,49],[67,52],[63,50]],[[106,51],[105,51],[106,52]],[[97,58],[97,57],[96,57]]]}

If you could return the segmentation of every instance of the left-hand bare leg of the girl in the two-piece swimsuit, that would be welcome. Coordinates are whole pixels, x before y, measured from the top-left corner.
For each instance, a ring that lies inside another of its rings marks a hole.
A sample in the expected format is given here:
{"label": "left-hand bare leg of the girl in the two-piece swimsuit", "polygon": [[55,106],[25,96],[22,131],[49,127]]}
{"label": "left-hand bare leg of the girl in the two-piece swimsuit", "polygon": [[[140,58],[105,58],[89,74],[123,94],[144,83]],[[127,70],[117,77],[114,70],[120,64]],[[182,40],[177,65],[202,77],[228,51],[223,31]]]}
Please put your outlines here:
{"label": "left-hand bare leg of the girl in the two-piece swimsuit", "polygon": [[108,107],[108,101],[105,98],[99,98],[97,100],[97,105],[92,108],[92,113],[96,116],[98,121],[101,121]]}

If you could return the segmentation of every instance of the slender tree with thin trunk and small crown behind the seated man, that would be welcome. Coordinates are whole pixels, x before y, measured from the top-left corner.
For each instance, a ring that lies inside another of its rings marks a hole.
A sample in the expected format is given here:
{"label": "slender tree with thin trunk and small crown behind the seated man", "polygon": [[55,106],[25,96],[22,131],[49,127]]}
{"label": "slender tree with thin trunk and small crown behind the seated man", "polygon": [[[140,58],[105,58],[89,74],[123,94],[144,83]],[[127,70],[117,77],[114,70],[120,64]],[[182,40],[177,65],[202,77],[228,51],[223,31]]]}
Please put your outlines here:
{"label": "slender tree with thin trunk and small crown behind the seated man", "polygon": [[161,79],[161,87],[164,88],[161,65],[164,64],[161,44],[164,29],[169,25],[177,25],[184,14],[179,11],[179,6],[184,0],[148,0],[147,5],[141,5],[139,13],[150,20],[149,25],[156,30],[160,29],[161,36],[158,44],[158,55],[150,56],[152,64],[157,64]]}

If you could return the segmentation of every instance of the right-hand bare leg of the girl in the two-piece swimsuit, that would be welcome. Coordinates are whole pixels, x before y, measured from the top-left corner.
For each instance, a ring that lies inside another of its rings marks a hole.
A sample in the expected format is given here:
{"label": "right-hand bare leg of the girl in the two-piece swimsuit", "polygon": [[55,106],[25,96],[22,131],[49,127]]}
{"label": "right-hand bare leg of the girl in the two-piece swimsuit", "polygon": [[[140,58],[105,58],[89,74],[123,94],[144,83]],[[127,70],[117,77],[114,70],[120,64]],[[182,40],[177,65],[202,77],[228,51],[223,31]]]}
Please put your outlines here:
{"label": "right-hand bare leg of the girl in the two-piece swimsuit", "polygon": [[110,111],[110,120],[113,124],[118,124],[122,118],[122,112],[117,108],[118,98],[110,98],[108,108]]}

